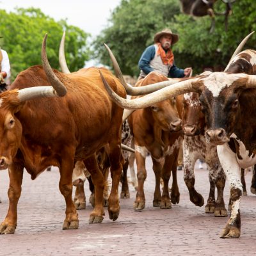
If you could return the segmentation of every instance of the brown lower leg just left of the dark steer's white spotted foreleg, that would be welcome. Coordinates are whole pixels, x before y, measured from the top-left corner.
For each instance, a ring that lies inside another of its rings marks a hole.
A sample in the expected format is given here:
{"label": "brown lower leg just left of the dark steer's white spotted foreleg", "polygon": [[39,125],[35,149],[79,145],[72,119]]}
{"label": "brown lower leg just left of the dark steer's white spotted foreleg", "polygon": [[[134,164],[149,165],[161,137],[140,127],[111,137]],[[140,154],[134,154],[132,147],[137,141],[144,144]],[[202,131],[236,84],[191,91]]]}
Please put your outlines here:
{"label": "brown lower leg just left of the dark steer's white spotted foreleg", "polygon": [[216,200],[216,204],[215,204],[214,216],[215,217],[226,217],[227,209],[225,207],[225,202],[224,202],[224,198],[223,198],[223,191],[225,188],[226,176],[225,176],[225,173],[224,173],[223,169],[221,168],[221,166],[219,166],[219,168],[215,172],[217,175],[215,184],[216,184],[216,188],[218,191],[218,196],[217,196],[217,200]]}

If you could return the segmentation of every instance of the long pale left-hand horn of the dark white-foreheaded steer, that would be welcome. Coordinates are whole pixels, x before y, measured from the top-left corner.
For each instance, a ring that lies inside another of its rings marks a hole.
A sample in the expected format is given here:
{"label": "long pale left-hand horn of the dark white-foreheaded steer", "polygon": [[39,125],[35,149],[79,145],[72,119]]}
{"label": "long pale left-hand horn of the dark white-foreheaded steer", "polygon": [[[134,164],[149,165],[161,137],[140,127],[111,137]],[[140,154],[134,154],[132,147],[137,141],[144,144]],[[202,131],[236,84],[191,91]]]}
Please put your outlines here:
{"label": "long pale left-hand horn of the dark white-foreheaded steer", "polygon": [[200,92],[199,88],[200,86],[202,86],[202,83],[196,83],[198,82],[199,78],[195,77],[193,79],[189,79],[186,81],[173,84],[172,86],[168,86],[166,88],[158,90],[157,92],[150,93],[143,97],[129,100],[129,99],[124,99],[119,95],[117,95],[111,89],[106,79],[104,79],[104,76],[102,75],[101,72],[100,72],[100,77],[111,99],[116,104],[118,104],[119,106],[125,109],[147,108],[149,106],[152,106],[152,104],[156,104],[157,102],[169,99],[170,97],[173,97],[175,95],[180,95],[188,92]]}

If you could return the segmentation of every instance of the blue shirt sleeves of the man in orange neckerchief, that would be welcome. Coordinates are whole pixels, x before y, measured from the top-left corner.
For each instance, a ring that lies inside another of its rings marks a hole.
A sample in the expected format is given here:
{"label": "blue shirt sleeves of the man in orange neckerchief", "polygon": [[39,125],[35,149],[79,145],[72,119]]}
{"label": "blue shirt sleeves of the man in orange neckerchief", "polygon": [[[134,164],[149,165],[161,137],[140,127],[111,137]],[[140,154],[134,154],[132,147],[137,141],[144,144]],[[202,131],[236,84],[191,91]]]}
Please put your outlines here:
{"label": "blue shirt sleeves of the man in orange neckerchief", "polygon": [[[140,69],[143,70],[143,72],[145,74],[148,74],[148,73],[154,71],[154,69],[152,67],[150,67],[150,61],[153,60],[155,54],[156,54],[156,49],[155,49],[154,45],[150,45],[145,49],[145,51],[141,55],[141,58],[140,58],[138,64],[139,64]],[[184,69],[178,68],[175,65],[172,65],[172,67],[170,68],[168,77],[172,77],[172,78],[184,77]]]}

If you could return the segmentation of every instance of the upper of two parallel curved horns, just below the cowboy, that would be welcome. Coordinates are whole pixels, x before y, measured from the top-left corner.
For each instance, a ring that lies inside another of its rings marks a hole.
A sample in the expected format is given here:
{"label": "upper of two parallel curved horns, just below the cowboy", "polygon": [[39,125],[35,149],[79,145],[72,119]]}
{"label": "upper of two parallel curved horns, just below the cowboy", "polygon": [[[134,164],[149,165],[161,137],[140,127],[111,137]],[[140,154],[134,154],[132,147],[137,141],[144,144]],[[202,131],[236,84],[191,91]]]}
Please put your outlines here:
{"label": "upper of two parallel curved horns, just below the cowboy", "polygon": [[171,84],[175,84],[175,83],[178,83],[178,82],[182,81],[182,79],[180,79],[180,78],[174,78],[170,81],[163,81],[163,82],[160,82],[160,83],[156,83],[154,85],[148,84],[147,86],[133,87],[130,84],[127,84],[125,82],[124,77],[122,75],[122,72],[120,70],[120,67],[118,65],[118,62],[116,61],[116,58],[115,58],[113,52],[111,51],[111,49],[109,49],[108,45],[106,45],[106,44],[104,44],[104,45],[105,45],[106,49],[108,50],[109,56],[110,56],[111,61],[113,63],[113,68],[115,70],[115,75],[120,80],[120,82],[124,86],[127,94],[129,94],[129,95],[138,96],[138,95],[144,95],[144,94],[156,92],[157,90],[162,89],[166,86],[169,86]]}

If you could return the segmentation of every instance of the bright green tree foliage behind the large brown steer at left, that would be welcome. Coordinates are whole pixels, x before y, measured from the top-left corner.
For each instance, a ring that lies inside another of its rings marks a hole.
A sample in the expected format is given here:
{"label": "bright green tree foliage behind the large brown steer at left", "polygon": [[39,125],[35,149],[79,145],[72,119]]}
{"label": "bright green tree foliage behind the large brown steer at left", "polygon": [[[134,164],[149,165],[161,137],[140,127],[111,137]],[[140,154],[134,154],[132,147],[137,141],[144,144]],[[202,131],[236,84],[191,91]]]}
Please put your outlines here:
{"label": "bright green tree foliage behind the large brown steer at left", "polygon": [[0,10],[1,47],[8,52],[12,68],[12,80],[17,74],[41,63],[42,39],[48,33],[47,56],[51,66],[59,68],[58,52],[63,30],[66,30],[65,56],[70,71],[84,67],[89,58],[86,46],[88,34],[66,20],[56,22],[36,8],[19,8],[7,13]]}

